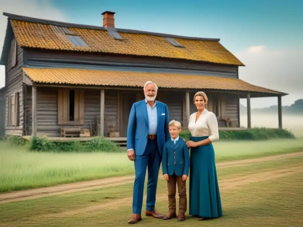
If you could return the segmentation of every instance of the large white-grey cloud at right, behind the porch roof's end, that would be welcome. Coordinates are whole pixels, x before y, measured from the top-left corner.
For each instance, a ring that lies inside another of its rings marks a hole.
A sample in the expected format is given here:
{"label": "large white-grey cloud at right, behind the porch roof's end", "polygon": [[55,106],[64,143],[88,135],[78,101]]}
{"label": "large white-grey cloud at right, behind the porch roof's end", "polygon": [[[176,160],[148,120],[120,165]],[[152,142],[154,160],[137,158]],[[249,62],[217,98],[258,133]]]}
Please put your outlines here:
{"label": "large white-grey cloud at right, behind the porch roof's end", "polygon": [[[270,50],[265,46],[252,46],[235,54],[245,66],[239,67],[239,78],[261,87],[288,93],[282,105],[291,105],[303,98],[303,48]],[[241,100],[246,105],[246,100]],[[251,99],[251,107],[277,105],[277,98]]]}

